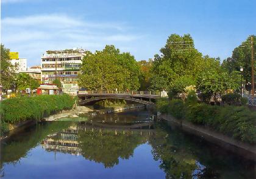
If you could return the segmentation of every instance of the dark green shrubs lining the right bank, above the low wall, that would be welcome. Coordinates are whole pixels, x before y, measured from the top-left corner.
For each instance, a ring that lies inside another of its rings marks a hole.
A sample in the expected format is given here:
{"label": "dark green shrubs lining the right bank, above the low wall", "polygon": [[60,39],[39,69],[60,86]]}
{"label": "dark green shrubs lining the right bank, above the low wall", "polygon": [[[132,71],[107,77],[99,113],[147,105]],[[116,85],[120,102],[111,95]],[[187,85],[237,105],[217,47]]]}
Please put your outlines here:
{"label": "dark green shrubs lining the right bank, above the low wall", "polygon": [[178,120],[208,126],[227,136],[256,144],[256,112],[246,106],[212,106],[190,100],[159,99],[157,109]]}

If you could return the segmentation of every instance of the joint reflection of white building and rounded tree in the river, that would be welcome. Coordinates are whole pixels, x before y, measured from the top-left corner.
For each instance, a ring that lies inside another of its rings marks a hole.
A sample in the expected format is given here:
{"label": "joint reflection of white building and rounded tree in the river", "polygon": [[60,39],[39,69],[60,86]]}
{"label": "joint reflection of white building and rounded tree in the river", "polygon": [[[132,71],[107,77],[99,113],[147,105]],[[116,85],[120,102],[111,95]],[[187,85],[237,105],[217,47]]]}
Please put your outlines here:
{"label": "joint reflection of white building and rounded tree in the river", "polygon": [[109,124],[106,129],[102,125],[95,126],[95,123],[76,123],[68,129],[48,135],[41,144],[48,151],[82,155],[105,167],[113,167],[119,163],[119,158],[129,159],[133,150],[154,134],[154,129],[149,128],[152,123],[143,124],[143,127],[147,126],[146,129],[140,125],[133,125],[133,128],[141,129],[123,129],[124,123],[119,126],[121,129],[118,126],[110,129]]}

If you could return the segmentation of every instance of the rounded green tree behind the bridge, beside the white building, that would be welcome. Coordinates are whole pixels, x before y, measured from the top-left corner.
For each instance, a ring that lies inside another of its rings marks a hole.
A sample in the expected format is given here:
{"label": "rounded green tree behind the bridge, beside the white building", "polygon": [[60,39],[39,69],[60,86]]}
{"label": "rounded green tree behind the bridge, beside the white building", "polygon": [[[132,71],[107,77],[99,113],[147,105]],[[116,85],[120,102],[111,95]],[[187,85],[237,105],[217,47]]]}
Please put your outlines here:
{"label": "rounded green tree behind the bridge, beside the white building", "polygon": [[79,75],[79,86],[90,90],[137,90],[140,67],[130,53],[105,46],[96,53],[87,52]]}

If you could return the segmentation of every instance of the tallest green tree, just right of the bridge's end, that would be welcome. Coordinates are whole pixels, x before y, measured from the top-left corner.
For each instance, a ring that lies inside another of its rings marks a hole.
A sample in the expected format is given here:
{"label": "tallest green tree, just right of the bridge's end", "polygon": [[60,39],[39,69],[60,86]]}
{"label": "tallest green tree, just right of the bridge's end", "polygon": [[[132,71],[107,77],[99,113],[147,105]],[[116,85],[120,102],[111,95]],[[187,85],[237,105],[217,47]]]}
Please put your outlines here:
{"label": "tallest green tree, just right of the bridge's end", "polygon": [[[165,81],[166,86],[172,84],[179,76],[190,75],[196,78],[204,65],[204,58],[194,49],[194,41],[190,35],[172,34],[160,52],[161,56],[155,55],[152,76],[163,78],[161,82]],[[155,77],[151,78],[151,87],[155,89],[158,86]]]}

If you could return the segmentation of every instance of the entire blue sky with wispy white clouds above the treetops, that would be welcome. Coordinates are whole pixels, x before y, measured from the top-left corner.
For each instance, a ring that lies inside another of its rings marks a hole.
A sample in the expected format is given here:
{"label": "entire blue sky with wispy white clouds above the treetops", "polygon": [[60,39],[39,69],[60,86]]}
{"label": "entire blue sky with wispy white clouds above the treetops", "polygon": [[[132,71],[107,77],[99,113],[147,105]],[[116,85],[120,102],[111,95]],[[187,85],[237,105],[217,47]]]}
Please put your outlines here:
{"label": "entire blue sky with wispy white clouds above the treetops", "polygon": [[46,50],[105,44],[149,59],[172,33],[190,33],[203,55],[225,59],[256,34],[256,0],[1,1],[1,42],[29,66]]}

